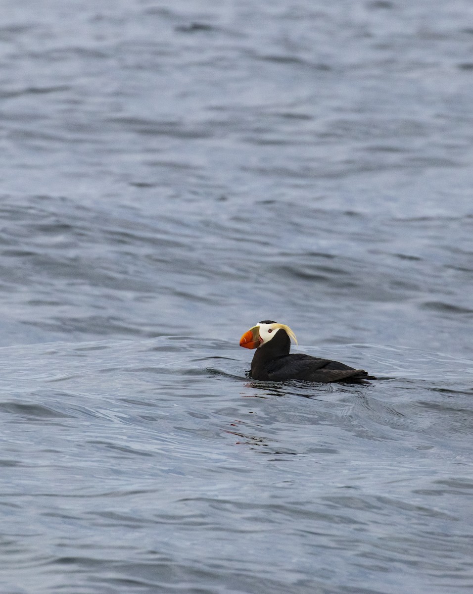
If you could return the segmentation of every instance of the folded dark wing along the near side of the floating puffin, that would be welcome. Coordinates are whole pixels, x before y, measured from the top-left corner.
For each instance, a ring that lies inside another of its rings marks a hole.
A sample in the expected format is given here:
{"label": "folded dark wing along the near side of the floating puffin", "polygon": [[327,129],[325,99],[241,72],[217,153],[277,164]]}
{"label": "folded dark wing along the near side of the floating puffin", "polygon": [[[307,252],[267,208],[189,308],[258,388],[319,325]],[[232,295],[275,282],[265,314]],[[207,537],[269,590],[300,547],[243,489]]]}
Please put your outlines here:
{"label": "folded dark wing along the near side of the floating puffin", "polygon": [[269,380],[305,380],[327,383],[329,381],[361,380],[369,378],[364,369],[354,369],[330,359],[320,359],[297,353],[283,355],[266,365]]}

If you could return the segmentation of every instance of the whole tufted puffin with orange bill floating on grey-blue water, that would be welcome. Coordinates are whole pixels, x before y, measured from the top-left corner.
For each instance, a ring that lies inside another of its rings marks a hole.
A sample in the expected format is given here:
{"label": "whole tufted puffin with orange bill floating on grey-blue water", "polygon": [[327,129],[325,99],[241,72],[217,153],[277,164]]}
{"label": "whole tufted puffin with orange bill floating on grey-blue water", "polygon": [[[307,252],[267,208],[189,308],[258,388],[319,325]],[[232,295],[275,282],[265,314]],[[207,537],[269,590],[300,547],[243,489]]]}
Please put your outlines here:
{"label": "whole tufted puffin with orange bill floating on grey-blue water", "polygon": [[253,380],[329,381],[376,380],[364,369],[354,369],[338,361],[319,359],[303,353],[290,355],[291,339],[297,339],[290,327],[272,320],[264,320],[250,328],[240,339],[240,346],[256,349],[251,362]]}

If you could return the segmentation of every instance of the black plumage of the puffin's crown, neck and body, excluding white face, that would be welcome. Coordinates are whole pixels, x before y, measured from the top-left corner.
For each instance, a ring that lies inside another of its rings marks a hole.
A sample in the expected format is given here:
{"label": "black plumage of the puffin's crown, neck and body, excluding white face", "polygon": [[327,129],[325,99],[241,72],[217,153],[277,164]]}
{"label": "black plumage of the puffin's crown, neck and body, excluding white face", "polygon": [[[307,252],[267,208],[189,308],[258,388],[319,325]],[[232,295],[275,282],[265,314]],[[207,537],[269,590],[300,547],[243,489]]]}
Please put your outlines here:
{"label": "black plumage of the puffin's crown, neck and body, excluding white face", "polygon": [[287,332],[284,328],[278,329],[271,340],[256,349],[251,362],[250,376],[263,381],[305,380],[323,383],[376,379],[364,369],[354,369],[338,361],[302,353],[291,355],[290,348],[291,340]]}

